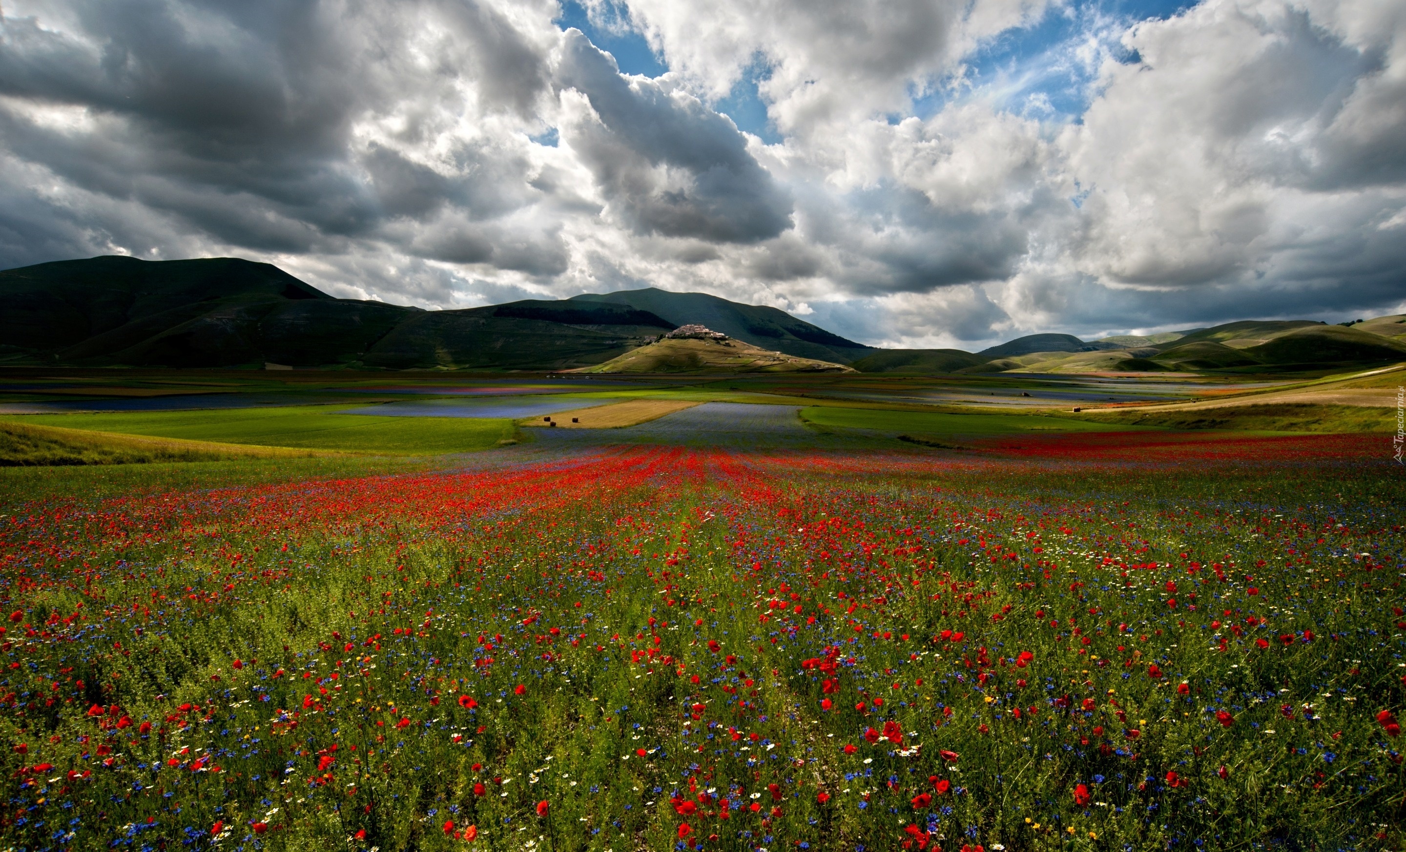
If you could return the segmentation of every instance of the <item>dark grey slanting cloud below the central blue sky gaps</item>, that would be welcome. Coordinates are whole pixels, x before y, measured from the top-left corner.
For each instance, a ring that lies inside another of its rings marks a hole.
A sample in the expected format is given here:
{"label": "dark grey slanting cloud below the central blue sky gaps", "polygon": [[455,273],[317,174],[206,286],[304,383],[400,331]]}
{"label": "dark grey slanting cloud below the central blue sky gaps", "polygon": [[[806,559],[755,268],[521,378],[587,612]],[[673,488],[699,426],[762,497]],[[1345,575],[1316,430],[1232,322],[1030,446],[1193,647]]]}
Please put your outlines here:
{"label": "dark grey slanting cloud below the central blue sky gaps", "polygon": [[731,120],[654,80],[626,80],[576,30],[565,42],[558,80],[600,118],[569,142],[636,232],[751,243],[790,228],[790,197]]}

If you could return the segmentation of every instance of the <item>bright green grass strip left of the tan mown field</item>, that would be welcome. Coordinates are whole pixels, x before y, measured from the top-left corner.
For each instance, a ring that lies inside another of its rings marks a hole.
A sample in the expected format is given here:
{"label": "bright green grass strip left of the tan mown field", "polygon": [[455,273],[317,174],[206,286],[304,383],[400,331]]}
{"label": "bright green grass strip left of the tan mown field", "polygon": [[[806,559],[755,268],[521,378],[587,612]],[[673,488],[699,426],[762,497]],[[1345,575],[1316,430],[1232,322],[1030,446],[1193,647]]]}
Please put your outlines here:
{"label": "bright green grass strip left of the tan mown field", "polygon": [[468,453],[513,436],[513,422],[508,419],[336,413],[347,408],[352,406],[27,415],[22,422],[229,444],[406,454]]}

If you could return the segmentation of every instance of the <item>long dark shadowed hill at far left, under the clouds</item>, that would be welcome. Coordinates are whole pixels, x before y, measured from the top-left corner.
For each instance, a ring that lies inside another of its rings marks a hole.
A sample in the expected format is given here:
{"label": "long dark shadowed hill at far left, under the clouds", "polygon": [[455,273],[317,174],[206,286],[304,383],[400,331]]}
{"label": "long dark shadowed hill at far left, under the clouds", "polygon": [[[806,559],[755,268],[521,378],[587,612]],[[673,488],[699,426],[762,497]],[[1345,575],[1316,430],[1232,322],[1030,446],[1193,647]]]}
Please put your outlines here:
{"label": "long dark shadowed hill at far left, under the clouds", "polygon": [[630,305],[520,301],[423,311],[337,299],[235,257],[91,257],[0,271],[10,363],[560,370],[673,329]]}

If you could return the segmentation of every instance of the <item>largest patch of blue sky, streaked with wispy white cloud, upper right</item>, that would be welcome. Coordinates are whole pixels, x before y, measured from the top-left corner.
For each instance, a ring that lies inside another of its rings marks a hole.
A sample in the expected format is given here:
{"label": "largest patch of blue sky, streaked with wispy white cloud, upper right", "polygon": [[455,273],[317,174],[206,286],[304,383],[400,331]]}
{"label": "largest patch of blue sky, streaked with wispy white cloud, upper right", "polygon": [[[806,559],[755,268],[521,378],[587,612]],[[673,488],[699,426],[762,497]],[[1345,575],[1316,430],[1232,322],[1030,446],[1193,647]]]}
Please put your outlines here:
{"label": "largest patch of blue sky, streaked with wispy white cloud, upper right", "polygon": [[[1047,122],[1077,122],[1097,96],[1099,65],[1112,58],[1137,62],[1122,35],[1139,21],[1166,20],[1192,0],[1071,0],[1052,3],[1025,27],[983,44],[965,62],[965,76],[914,90],[912,114],[928,118],[969,98]],[[891,117],[893,121],[901,117]]]}

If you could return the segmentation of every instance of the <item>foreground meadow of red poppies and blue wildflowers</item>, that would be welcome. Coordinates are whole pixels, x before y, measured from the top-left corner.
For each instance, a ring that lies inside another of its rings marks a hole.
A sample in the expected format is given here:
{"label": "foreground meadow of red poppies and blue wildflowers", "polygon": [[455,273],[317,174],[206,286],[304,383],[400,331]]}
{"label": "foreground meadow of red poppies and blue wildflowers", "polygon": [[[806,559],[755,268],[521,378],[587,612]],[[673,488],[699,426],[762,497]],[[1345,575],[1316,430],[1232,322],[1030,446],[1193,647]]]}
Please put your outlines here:
{"label": "foreground meadow of red poppies and blue wildflowers", "polygon": [[0,517],[0,846],[1400,849],[1381,443],[70,478]]}

